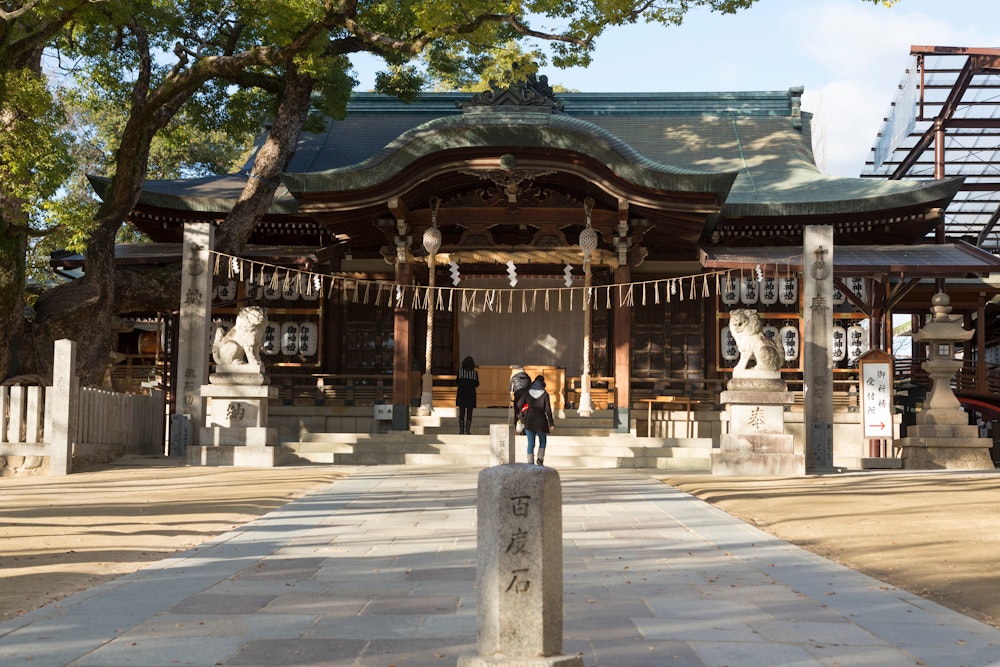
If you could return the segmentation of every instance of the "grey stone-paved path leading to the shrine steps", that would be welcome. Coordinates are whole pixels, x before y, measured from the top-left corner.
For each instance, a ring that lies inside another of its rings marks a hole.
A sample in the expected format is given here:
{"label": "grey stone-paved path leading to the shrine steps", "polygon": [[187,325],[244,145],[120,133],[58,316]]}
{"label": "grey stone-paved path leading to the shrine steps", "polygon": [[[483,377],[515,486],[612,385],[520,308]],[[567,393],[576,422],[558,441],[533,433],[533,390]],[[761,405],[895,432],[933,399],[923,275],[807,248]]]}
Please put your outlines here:
{"label": "grey stone-paved path leading to the shrine steps", "polygon": [[[455,665],[472,468],[371,467],[0,625],[0,664]],[[1000,666],[1000,630],[635,470],[562,470],[564,654],[588,667]]]}

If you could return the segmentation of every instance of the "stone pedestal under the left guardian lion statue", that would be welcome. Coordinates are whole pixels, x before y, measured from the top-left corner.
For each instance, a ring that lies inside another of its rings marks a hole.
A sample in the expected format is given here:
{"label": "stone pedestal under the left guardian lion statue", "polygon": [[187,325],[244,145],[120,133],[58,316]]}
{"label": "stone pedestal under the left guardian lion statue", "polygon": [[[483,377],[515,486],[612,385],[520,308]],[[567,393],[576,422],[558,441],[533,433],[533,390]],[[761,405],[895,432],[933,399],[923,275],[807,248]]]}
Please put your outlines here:
{"label": "stone pedestal under the left guardian lion statue", "polygon": [[258,368],[248,372],[214,373],[203,385],[209,399],[205,426],[199,429],[198,446],[187,448],[188,465],[270,468],[288,458],[278,445],[278,430],[267,426],[268,401],[278,397],[277,387],[264,384]]}

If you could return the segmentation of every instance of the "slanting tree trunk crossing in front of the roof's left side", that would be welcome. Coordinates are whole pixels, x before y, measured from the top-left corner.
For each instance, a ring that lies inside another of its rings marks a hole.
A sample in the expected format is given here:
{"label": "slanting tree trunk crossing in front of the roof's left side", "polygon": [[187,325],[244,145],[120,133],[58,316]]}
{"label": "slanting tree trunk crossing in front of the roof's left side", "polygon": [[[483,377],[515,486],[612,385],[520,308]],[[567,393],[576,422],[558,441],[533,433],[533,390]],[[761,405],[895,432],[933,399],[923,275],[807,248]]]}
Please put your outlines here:
{"label": "slanting tree trunk crossing in front of the roof's left side", "polygon": [[313,79],[290,69],[285,79],[278,115],[264,145],[254,158],[250,178],[239,200],[219,227],[216,249],[227,255],[239,253],[274,200],[281,172],[288,166],[309,114]]}

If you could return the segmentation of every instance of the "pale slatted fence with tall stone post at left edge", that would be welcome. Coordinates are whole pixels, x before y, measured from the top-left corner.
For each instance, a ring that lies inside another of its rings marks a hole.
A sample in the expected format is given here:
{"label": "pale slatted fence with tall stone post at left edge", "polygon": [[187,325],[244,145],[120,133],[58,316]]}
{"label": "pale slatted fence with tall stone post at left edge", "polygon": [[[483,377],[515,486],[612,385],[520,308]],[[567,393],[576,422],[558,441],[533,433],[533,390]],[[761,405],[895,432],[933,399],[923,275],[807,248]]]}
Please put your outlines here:
{"label": "pale slatted fence with tall stone post at left edge", "polygon": [[[69,341],[56,342],[57,364],[60,343]],[[72,360],[63,365],[71,368]],[[163,453],[162,391],[81,389],[59,371],[51,387],[0,387],[0,476],[64,475],[128,454]]]}

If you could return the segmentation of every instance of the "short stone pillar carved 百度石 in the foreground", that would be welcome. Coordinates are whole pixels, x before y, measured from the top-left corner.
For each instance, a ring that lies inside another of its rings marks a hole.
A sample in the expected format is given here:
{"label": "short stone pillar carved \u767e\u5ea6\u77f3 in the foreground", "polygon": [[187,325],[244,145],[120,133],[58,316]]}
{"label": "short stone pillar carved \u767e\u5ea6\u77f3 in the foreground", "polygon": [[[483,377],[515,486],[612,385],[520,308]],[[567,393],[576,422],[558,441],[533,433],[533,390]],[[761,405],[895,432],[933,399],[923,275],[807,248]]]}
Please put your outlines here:
{"label": "short stone pillar carved \u767e\u5ea6\u77f3 in the foreground", "polygon": [[479,655],[460,667],[583,667],[562,652],[562,487],[552,468],[514,463],[479,473]]}

